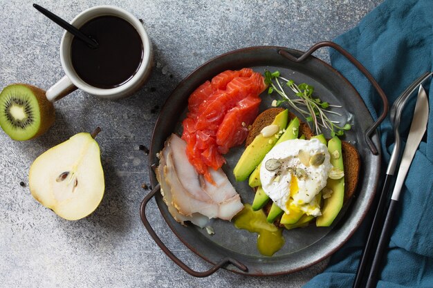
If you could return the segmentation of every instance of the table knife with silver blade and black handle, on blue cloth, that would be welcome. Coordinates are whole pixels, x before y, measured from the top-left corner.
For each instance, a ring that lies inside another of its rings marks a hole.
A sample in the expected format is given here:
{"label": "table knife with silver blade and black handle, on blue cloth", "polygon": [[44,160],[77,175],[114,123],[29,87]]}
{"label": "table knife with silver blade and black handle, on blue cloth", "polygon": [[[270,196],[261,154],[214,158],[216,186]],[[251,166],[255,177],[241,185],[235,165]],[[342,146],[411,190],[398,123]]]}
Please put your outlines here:
{"label": "table knife with silver blade and black handle, on blue cloth", "polygon": [[416,150],[418,149],[418,146],[423,139],[425,130],[427,129],[428,114],[429,108],[427,94],[425,93],[423,86],[420,85],[418,97],[416,98],[414,117],[412,119],[412,124],[410,125],[409,136],[407,137],[405,151],[403,152],[403,156],[401,158],[396,184],[394,186],[394,190],[392,191],[391,201],[389,202],[387,216],[385,218],[385,222],[383,223],[382,232],[380,233],[376,253],[374,255],[373,262],[371,263],[370,273],[367,278],[367,284],[365,285],[366,288],[376,287],[379,267],[382,264],[382,256],[385,251],[385,247],[387,247],[389,244],[392,220],[397,208],[398,199],[400,198],[401,188],[403,187],[403,182],[407,175],[407,171],[409,171],[409,166],[414,159]]}

